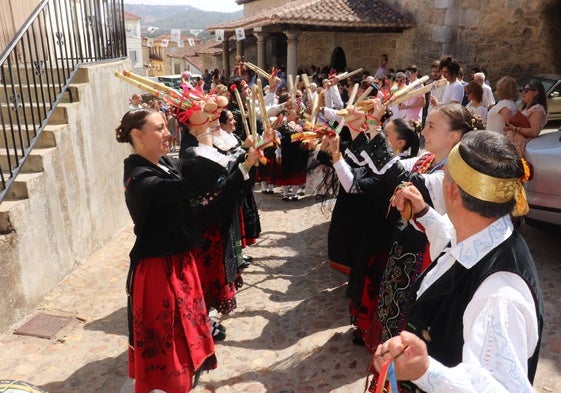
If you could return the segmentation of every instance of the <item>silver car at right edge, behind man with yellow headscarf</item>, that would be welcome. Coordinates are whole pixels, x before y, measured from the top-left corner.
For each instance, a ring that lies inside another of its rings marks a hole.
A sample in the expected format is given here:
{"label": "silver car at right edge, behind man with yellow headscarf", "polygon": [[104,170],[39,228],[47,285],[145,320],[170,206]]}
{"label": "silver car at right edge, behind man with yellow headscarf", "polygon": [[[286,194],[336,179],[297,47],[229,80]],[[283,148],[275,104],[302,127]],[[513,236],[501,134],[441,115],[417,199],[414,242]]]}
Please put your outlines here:
{"label": "silver car at right edge, behind man with yellow headscarf", "polygon": [[561,225],[561,129],[529,141],[526,158],[534,168],[525,184],[528,218]]}

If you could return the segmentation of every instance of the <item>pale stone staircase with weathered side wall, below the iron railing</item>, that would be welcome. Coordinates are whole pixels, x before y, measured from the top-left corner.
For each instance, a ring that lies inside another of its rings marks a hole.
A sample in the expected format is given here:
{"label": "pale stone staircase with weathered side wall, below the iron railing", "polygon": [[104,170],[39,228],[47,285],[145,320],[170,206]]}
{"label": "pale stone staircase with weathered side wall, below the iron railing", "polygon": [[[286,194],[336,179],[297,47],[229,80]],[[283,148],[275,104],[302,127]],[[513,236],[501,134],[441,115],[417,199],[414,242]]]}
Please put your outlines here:
{"label": "pale stone staircase with weathered side wall, below the iron railing", "polygon": [[[0,332],[130,222],[121,185],[128,148],[115,141],[114,129],[132,92],[113,75],[128,68],[128,60],[80,67],[0,203]],[[0,110],[4,119],[15,118],[6,90],[11,86],[0,84]],[[29,90],[18,94],[30,97]],[[39,118],[43,110],[22,106],[20,119]],[[15,128],[14,141],[12,130],[0,127],[2,168],[6,150],[13,158],[14,146],[21,150],[38,125]]]}

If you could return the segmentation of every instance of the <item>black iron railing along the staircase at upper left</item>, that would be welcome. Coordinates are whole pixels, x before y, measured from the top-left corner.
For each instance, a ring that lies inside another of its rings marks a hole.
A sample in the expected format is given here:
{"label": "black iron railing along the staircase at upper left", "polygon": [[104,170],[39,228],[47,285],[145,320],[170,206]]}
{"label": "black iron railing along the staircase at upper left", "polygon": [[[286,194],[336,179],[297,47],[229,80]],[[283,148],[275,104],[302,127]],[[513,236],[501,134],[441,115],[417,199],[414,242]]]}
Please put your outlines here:
{"label": "black iron railing along the staircase at upper left", "polygon": [[42,0],[0,55],[0,202],[84,63],[127,56],[123,0]]}

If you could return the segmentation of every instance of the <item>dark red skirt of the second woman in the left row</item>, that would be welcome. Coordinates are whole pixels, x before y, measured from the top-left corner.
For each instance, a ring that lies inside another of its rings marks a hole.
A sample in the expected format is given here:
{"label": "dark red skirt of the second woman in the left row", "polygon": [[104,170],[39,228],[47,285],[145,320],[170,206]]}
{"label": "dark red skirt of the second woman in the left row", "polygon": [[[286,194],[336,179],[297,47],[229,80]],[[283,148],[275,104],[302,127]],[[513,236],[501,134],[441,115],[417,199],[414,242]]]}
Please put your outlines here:
{"label": "dark red skirt of the second woman in the left row", "polygon": [[207,309],[215,308],[222,314],[231,313],[236,308],[236,288],[234,282],[227,278],[224,239],[220,231],[209,228],[203,234],[200,246],[194,248],[192,253]]}

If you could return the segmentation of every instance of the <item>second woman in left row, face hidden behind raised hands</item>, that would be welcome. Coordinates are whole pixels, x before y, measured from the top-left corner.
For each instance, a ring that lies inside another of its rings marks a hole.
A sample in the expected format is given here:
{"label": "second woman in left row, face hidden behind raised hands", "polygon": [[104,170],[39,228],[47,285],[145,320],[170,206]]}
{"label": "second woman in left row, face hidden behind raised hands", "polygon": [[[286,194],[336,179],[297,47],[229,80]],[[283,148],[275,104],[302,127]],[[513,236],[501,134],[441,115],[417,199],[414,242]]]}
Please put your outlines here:
{"label": "second woman in left row, face hidden behind raised hands", "polygon": [[[229,314],[237,306],[236,288],[243,283],[239,268],[243,260],[238,213],[246,197],[245,185],[251,182],[251,167],[242,164],[245,151],[227,155],[213,146],[212,133],[220,128],[218,114],[227,104],[225,97],[222,98],[222,105],[218,105],[206,120],[201,120],[200,111],[184,111],[178,117],[198,141],[197,146],[182,151],[180,157],[185,160],[197,184],[197,192],[189,201],[189,218],[202,232],[193,254],[205,303],[208,311],[216,309],[221,314]],[[244,179],[237,176],[240,171]],[[212,204],[211,209],[207,208],[209,204]],[[225,329],[214,321],[211,324],[213,338],[224,339]]]}

